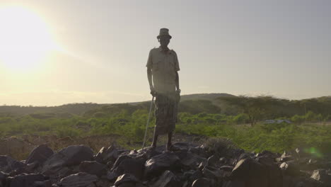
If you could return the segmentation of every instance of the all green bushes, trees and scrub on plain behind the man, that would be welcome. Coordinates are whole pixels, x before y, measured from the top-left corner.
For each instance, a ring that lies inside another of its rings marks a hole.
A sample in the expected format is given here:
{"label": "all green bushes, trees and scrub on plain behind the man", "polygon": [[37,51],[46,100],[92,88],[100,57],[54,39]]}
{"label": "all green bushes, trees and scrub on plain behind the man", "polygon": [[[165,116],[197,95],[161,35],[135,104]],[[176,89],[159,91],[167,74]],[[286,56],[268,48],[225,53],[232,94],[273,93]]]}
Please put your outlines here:
{"label": "all green bushes, trees and scrub on plain behind the man", "polygon": [[[303,108],[303,106],[305,108]],[[180,103],[176,133],[226,137],[248,151],[283,152],[303,147],[318,156],[331,154],[330,98],[288,101],[270,96],[226,96]],[[121,145],[138,148],[144,138],[149,102],[102,105],[76,113],[0,116],[0,138],[23,134],[86,137],[117,135]],[[306,113],[304,111],[306,109]],[[79,111],[74,109],[74,111]],[[265,124],[287,119],[292,123]],[[149,137],[153,135],[152,116]]]}

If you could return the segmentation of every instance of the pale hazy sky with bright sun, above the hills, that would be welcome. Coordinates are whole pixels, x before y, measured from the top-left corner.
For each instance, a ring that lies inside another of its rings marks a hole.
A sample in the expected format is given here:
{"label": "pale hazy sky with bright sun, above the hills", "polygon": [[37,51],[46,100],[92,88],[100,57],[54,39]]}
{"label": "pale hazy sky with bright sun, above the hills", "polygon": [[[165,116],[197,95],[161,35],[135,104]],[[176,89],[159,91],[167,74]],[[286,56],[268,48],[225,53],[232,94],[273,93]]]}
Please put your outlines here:
{"label": "pale hazy sky with bright sun, above the hills", "polygon": [[331,95],[331,1],[0,1],[0,105],[151,99],[160,28],[182,94]]}

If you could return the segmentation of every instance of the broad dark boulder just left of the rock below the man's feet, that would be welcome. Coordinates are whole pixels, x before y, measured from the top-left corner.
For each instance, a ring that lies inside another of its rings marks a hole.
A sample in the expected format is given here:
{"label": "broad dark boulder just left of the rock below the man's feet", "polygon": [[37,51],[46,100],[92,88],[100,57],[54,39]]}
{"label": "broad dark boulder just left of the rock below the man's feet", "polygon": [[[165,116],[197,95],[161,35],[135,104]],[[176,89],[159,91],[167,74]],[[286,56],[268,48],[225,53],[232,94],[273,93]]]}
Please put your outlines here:
{"label": "broad dark boulder just left of the rock below the man's feet", "polygon": [[119,176],[122,174],[132,174],[137,179],[142,179],[144,175],[145,160],[134,159],[128,155],[122,155],[116,160],[112,171]]}

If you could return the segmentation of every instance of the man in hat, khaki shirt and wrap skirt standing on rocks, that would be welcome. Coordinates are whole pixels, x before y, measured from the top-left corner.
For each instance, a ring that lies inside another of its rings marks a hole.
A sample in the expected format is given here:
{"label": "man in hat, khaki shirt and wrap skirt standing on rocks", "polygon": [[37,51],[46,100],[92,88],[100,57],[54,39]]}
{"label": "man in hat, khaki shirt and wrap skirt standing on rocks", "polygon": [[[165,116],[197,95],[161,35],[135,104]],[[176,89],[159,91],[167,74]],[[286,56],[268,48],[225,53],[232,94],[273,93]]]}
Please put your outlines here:
{"label": "man in hat, khaki shirt and wrap skirt standing on rocks", "polygon": [[158,135],[168,134],[166,148],[172,149],[171,138],[177,122],[177,108],[180,100],[178,57],[168,44],[172,38],[168,28],[161,28],[156,37],[160,47],[149,52],[147,60],[147,77],[149,87],[155,100],[156,126],[154,129],[152,148],[156,147]]}

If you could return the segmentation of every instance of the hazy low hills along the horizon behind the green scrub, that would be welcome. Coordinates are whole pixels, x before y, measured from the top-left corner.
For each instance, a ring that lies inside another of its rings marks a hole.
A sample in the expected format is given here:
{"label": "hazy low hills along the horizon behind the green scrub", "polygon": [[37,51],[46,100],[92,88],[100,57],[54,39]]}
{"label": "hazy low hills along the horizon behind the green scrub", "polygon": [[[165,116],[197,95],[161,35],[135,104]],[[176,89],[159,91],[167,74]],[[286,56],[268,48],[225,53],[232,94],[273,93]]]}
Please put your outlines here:
{"label": "hazy low hills along the horizon behind the green scrub", "polygon": [[[223,113],[237,115],[241,113],[222,98],[237,97],[231,94],[188,94],[180,98],[179,112],[185,113]],[[133,113],[138,109],[147,110],[150,101],[134,103],[69,103],[62,106],[0,106],[0,116],[32,114],[34,118],[70,118],[72,115],[86,117],[115,115],[122,111]],[[282,99],[277,104],[269,103],[274,115],[279,117],[303,115],[306,111],[331,114],[331,96],[307,98],[302,100]]]}

